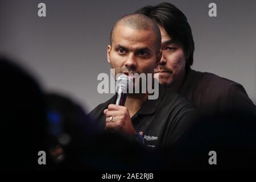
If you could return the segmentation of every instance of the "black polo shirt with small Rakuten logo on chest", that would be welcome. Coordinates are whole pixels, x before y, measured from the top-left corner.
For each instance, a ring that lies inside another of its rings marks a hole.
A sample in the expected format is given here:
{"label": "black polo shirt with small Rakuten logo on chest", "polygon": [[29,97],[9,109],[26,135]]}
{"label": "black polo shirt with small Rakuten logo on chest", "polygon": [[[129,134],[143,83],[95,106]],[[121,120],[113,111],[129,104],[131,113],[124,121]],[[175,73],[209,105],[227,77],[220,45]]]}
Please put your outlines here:
{"label": "black polo shirt with small Rakuten logo on chest", "polygon": [[[102,132],[106,119],[103,111],[114,103],[115,96],[90,112]],[[191,102],[159,85],[158,99],[144,101],[141,109],[131,117],[131,122],[146,146],[170,147],[179,144],[198,117],[199,112]]]}

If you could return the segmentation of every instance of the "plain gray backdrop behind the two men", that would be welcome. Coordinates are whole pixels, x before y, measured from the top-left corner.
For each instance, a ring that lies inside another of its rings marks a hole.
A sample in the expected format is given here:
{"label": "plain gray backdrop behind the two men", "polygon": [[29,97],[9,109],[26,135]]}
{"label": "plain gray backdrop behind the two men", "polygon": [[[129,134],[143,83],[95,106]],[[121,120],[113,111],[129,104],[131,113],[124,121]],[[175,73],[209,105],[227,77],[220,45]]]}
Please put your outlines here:
{"label": "plain gray backdrop behind the two men", "polygon": [[[38,3],[47,16],[38,17]],[[46,90],[91,110],[112,94],[97,93],[108,73],[106,46],[115,20],[162,1],[0,0],[0,52],[32,72]],[[167,1],[187,16],[195,40],[193,69],[240,82],[256,103],[256,1]],[[208,16],[210,2],[217,17]]]}

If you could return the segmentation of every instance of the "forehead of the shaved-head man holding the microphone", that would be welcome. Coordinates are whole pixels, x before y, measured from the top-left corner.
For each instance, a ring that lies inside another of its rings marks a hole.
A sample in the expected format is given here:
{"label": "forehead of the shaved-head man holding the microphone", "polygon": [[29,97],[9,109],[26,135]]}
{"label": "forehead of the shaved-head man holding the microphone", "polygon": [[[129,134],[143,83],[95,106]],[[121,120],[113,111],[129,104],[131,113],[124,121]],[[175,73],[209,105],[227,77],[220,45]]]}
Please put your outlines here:
{"label": "forehead of the shaved-head man holding the microphone", "polygon": [[121,44],[130,48],[147,47],[156,49],[156,36],[152,30],[136,30],[127,26],[118,26],[113,32],[113,46]]}

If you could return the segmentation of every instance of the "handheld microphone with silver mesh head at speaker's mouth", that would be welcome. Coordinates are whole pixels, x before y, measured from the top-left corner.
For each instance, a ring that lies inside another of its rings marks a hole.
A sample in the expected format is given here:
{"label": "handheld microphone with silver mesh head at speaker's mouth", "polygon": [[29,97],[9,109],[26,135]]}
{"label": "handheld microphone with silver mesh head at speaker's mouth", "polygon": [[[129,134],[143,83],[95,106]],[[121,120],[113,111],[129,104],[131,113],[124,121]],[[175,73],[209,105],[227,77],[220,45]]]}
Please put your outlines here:
{"label": "handheld microphone with silver mesh head at speaker's mouth", "polygon": [[119,106],[125,106],[126,96],[128,93],[128,88],[131,85],[131,80],[127,75],[120,75],[117,77],[115,82],[115,104]]}

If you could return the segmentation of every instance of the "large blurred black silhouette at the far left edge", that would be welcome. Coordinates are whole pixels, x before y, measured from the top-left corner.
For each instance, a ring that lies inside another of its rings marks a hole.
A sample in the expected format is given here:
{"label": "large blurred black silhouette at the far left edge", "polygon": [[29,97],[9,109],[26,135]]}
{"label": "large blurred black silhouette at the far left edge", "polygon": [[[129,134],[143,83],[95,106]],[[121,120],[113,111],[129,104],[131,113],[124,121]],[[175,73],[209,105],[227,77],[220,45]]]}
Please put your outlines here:
{"label": "large blurred black silhouette at the far left edge", "polygon": [[46,107],[35,79],[0,55],[1,169],[42,169],[46,151]]}

